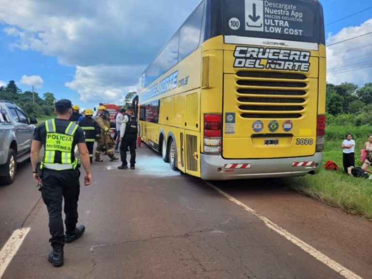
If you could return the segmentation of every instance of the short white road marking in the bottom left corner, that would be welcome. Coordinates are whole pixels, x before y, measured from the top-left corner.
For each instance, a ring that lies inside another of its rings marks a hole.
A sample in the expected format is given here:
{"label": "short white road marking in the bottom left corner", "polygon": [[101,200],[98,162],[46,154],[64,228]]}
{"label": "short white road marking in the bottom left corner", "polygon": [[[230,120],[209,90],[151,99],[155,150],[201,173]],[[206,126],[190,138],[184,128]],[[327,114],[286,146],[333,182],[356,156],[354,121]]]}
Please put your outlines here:
{"label": "short white road marking in the bottom left corner", "polygon": [[23,240],[26,238],[30,228],[23,228],[14,231],[12,236],[0,250],[0,278],[4,275],[6,268],[21,247]]}

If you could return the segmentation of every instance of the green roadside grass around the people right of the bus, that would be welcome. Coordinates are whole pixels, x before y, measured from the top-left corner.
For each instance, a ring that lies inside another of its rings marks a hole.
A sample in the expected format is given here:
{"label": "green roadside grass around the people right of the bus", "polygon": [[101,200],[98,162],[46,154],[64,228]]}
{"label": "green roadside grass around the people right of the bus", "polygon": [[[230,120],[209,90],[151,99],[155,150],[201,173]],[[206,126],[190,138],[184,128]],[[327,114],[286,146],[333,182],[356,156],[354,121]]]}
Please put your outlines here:
{"label": "green roadside grass around the people right of the bus", "polygon": [[[365,128],[365,127],[364,127]],[[350,129],[350,130],[347,130]],[[342,210],[372,218],[372,180],[355,178],[343,172],[341,143],[346,133],[351,132],[356,137],[355,164],[361,167],[359,162],[360,149],[367,141],[368,129],[347,126],[331,126],[330,134],[326,136],[325,152],[323,162],[334,161],[340,171],[327,171],[322,166],[322,170],[317,175],[306,175],[304,177],[289,178],[288,184],[300,193],[306,194],[316,200],[341,208]],[[345,130],[347,130],[345,132]],[[328,131],[328,128],[327,128]],[[335,134],[341,138],[335,139]]]}

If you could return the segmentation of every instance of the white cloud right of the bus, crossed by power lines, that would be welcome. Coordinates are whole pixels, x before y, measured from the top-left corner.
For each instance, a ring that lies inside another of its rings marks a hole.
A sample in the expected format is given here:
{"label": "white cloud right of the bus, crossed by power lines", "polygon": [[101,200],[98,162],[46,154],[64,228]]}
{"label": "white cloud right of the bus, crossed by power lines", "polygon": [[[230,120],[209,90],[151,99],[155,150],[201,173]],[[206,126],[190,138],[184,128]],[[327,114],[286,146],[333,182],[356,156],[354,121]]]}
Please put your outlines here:
{"label": "white cloud right of the bus, crossed by power lines", "polygon": [[[357,37],[372,31],[372,19],[360,26],[343,28],[329,34],[327,45]],[[327,82],[352,82],[363,86],[372,82],[372,34],[327,47]]]}

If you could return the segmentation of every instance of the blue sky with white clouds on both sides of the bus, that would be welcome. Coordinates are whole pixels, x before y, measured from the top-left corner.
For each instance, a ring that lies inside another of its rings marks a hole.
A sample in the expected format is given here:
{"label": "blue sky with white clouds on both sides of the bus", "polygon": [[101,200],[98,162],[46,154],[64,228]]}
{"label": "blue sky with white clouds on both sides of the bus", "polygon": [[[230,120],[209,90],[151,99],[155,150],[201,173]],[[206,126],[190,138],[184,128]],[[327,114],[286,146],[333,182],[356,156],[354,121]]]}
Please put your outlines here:
{"label": "blue sky with white clouds on both sides of the bus", "polygon": [[[199,2],[0,0],[0,86],[15,80],[22,91],[33,86],[41,97],[51,92],[81,108],[123,104]],[[372,82],[372,1],[321,3],[332,45],[327,82]]]}

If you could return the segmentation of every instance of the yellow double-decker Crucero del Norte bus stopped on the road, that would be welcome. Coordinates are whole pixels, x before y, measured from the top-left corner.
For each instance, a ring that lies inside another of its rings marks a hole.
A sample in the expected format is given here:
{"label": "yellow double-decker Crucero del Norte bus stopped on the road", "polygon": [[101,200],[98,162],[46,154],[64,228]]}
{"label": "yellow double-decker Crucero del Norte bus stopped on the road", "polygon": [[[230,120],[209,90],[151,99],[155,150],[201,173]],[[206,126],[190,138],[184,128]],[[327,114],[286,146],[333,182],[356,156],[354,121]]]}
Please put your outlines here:
{"label": "yellow double-decker Crucero del Norte bus stopped on the road", "polygon": [[206,180],[320,171],[325,34],[317,0],[202,0],[141,75],[140,136]]}

